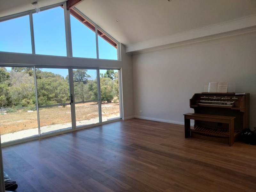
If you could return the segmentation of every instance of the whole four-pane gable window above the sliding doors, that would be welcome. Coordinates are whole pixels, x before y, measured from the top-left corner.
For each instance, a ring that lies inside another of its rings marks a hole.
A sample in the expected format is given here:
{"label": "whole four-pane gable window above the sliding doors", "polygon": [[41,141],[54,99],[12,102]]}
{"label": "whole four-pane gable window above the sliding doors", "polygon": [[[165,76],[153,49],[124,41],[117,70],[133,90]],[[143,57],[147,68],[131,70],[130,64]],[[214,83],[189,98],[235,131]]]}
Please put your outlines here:
{"label": "whole four-pane gable window above the sliding doors", "polygon": [[40,8],[39,13],[31,10],[0,18],[4,29],[0,52],[118,60],[118,43],[76,8],[69,10],[68,25],[65,6],[60,3]]}

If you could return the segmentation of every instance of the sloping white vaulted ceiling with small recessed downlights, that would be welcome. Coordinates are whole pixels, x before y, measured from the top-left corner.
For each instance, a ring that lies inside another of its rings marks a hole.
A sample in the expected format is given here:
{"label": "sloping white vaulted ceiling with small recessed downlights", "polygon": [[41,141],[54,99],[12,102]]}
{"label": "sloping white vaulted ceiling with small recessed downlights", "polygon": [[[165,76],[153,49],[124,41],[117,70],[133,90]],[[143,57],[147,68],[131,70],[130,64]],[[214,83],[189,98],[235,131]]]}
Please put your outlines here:
{"label": "sloping white vaulted ceiling with small recessed downlights", "polygon": [[[0,17],[31,10],[34,1],[0,0]],[[59,2],[38,0],[40,7]],[[256,0],[84,0],[76,8],[130,45],[256,14]]]}

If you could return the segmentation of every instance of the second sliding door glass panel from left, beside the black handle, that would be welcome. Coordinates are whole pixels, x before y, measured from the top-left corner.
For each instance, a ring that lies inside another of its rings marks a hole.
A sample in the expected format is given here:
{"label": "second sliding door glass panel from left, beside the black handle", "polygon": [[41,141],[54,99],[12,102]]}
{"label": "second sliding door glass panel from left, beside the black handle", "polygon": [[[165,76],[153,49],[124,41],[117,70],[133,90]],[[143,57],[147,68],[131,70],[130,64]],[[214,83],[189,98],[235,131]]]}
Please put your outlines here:
{"label": "second sliding door glass panel from left, beside the black handle", "polygon": [[72,129],[68,69],[36,68],[41,135]]}

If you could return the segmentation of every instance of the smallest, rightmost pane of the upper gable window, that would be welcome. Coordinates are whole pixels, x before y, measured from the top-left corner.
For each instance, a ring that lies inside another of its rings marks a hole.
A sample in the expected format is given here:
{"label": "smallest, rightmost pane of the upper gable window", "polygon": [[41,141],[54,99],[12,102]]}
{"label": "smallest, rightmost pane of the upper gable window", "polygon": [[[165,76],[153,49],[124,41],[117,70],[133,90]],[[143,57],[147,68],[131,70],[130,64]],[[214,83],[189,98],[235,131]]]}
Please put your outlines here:
{"label": "smallest, rightmost pane of the upper gable window", "polygon": [[98,29],[99,59],[117,60],[117,45]]}

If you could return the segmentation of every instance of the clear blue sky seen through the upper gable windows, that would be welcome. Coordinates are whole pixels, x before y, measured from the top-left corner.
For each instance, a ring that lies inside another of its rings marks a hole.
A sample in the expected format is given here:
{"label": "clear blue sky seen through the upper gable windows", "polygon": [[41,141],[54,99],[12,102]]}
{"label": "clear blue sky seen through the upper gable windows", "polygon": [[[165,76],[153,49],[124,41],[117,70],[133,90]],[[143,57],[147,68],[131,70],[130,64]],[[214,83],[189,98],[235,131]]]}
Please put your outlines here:
{"label": "clear blue sky seen through the upper gable windows", "polygon": [[[74,57],[96,58],[95,32],[70,16]],[[33,14],[36,54],[67,56],[64,10],[52,8]],[[29,16],[0,22],[0,51],[32,53]],[[98,36],[99,58],[117,60],[117,50]]]}

